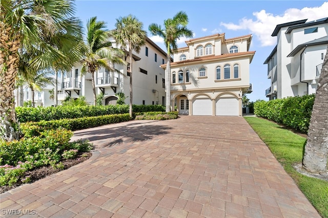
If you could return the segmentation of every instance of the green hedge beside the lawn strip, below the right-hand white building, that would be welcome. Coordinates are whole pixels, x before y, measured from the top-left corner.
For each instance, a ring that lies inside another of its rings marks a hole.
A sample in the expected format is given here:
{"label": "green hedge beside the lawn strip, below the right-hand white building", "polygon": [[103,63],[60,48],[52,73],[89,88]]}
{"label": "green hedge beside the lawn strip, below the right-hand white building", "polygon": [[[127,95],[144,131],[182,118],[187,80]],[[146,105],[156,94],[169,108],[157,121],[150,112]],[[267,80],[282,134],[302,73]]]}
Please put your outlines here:
{"label": "green hedge beside the lawn strip, below the right-hand white building", "polygon": [[307,133],[315,95],[304,95],[257,101],[254,103],[254,114],[276,123],[282,123]]}

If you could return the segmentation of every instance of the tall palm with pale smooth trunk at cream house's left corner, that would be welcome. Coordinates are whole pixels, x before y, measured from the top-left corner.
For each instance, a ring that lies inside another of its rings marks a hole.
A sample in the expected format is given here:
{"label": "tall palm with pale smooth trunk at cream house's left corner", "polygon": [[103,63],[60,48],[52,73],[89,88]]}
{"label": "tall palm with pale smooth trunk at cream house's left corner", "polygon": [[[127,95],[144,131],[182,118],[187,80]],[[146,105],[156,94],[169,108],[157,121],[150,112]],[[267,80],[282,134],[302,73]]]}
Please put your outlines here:
{"label": "tall palm with pale smooth trunk at cream house's left corner", "polygon": [[189,21],[188,15],[180,11],[173,19],[164,20],[164,28],[157,24],[150,24],[149,31],[152,35],[158,35],[164,39],[167,47],[167,67],[165,73],[165,88],[166,88],[166,112],[171,111],[171,54],[177,49],[176,40],[180,37],[193,37],[193,32],[187,28]]}

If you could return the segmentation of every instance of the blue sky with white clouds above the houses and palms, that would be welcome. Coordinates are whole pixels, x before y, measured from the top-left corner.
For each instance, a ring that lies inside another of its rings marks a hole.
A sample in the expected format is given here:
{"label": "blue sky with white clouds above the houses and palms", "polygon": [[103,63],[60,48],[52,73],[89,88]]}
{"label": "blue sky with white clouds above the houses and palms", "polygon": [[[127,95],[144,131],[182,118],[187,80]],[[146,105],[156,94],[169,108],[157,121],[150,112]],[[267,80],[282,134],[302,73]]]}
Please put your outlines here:
{"label": "blue sky with white clouds above the houses and palms", "polygon": [[[129,14],[144,23],[148,31],[151,23],[163,25],[178,11],[185,11],[189,17],[188,28],[194,38],[225,33],[226,38],[252,34],[250,51],[256,51],[250,65],[250,83],[253,93],[251,101],[268,100],[265,90],[270,86],[267,65],[263,64],[276,45],[271,34],[276,25],[299,19],[327,17],[328,2],[325,1],[90,1],[77,0],[76,16],[84,26],[92,16],[107,22],[108,29],[114,29],[116,18]],[[159,47],[166,51],[162,39],[148,34]],[[185,40],[178,41],[178,47],[186,47]]]}

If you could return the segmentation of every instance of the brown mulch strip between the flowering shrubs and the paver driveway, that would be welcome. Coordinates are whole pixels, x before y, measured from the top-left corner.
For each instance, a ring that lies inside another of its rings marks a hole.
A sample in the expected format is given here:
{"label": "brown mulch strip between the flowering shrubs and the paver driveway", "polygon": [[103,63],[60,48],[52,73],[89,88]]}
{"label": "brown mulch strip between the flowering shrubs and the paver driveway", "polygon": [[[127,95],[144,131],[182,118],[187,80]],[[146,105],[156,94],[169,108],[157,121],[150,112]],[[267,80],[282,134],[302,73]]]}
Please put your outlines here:
{"label": "brown mulch strip between the flowering shrubs and the paver driveway", "polygon": [[[71,166],[74,166],[76,164],[84,162],[84,161],[88,160],[91,156],[92,156],[92,152],[85,152],[83,154],[78,155],[75,159],[61,161],[65,166],[64,169],[54,169],[52,166],[43,166],[43,167],[33,169],[31,171],[27,171],[25,173],[25,176],[30,176],[31,177],[31,182],[29,182],[29,183],[33,183],[33,182],[35,182],[39,179],[43,179],[43,178],[45,178],[47,176],[50,176],[50,175],[52,175],[56,172],[68,169]],[[9,191],[10,189],[16,188],[20,185],[23,185],[23,184],[25,184],[25,183],[20,182],[20,183],[17,183],[15,185],[12,185],[12,186],[1,186],[0,187],[0,194],[4,193],[6,191]]]}

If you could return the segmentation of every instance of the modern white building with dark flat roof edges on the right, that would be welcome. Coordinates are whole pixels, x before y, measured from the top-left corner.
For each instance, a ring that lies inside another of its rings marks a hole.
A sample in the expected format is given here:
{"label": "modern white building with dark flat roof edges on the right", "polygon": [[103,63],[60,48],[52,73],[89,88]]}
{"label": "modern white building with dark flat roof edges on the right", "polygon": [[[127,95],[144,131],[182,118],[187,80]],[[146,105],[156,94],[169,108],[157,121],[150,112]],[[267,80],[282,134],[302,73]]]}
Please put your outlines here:
{"label": "modern white building with dark flat roof edges on the right", "polygon": [[268,64],[269,100],[316,92],[328,45],[328,17],[307,19],[276,26],[271,36],[277,45],[264,61]]}

